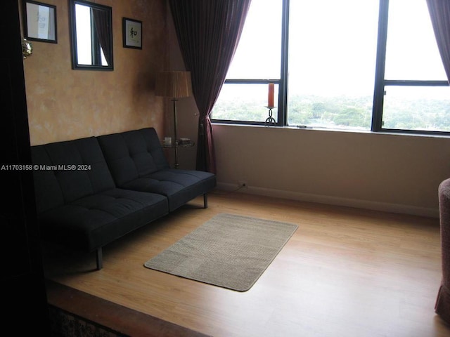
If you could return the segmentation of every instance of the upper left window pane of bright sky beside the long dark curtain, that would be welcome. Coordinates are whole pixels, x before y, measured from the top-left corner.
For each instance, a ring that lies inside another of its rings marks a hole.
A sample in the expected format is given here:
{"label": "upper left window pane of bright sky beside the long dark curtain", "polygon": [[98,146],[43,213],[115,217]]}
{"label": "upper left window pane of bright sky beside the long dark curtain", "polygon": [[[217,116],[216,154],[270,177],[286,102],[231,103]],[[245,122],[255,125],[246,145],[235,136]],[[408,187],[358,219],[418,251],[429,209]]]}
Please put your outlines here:
{"label": "upper left window pane of bright sky beside the long dark curtain", "polygon": [[281,0],[252,0],[227,79],[279,79]]}

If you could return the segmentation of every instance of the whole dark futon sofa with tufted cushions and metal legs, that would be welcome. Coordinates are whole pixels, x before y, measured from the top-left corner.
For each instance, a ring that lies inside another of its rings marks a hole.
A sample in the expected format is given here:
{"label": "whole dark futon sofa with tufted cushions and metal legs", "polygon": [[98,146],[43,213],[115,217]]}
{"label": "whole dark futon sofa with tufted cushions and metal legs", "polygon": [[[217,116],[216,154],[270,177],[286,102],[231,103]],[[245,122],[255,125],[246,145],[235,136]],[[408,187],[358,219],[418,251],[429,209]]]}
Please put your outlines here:
{"label": "whole dark futon sofa with tufted cushions and metal legs", "polygon": [[213,173],[171,169],[154,128],[32,147],[41,238],[102,247],[216,186]]}

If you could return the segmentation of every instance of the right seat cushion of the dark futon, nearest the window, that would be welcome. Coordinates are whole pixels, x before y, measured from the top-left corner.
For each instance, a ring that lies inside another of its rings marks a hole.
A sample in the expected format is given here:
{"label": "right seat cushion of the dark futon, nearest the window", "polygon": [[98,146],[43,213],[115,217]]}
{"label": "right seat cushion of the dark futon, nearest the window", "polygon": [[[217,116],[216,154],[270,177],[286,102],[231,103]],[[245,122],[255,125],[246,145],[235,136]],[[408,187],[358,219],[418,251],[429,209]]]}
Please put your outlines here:
{"label": "right seat cushion of the dark futon, nearest the window", "polygon": [[162,194],[169,200],[169,211],[205,194],[216,186],[213,173],[195,170],[162,169],[122,185],[129,190]]}

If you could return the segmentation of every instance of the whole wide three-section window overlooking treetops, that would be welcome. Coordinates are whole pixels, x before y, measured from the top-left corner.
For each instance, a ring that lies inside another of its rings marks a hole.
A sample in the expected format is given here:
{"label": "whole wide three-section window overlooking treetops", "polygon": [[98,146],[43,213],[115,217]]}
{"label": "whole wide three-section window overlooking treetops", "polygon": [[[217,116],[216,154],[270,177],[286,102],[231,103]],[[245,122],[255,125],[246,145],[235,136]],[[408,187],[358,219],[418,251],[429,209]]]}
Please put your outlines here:
{"label": "whole wide three-section window overlooking treetops", "polygon": [[278,126],[450,132],[425,0],[252,0],[213,121],[263,125],[269,83]]}

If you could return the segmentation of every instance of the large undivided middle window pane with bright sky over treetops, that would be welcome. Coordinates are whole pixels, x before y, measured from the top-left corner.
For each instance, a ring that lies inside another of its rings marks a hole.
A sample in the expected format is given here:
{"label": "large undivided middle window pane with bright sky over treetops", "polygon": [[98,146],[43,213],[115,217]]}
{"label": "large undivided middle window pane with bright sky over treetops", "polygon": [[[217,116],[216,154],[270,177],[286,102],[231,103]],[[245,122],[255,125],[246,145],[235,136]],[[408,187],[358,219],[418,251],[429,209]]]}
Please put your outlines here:
{"label": "large undivided middle window pane with bright sky over treetops", "polygon": [[378,0],[290,1],[290,126],[371,127],[378,6]]}

